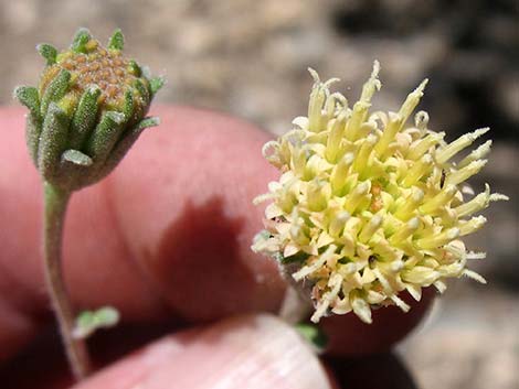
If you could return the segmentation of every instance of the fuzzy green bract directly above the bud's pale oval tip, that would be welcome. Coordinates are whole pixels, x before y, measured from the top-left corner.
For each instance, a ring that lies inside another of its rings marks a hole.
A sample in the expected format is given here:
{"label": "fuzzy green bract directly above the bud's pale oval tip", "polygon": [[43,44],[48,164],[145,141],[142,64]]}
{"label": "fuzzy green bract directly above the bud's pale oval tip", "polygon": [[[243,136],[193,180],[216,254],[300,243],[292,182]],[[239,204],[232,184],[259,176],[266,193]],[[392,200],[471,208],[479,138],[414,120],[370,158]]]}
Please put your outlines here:
{"label": "fuzzy green bract directly above the bud's pale oval tip", "polygon": [[91,86],[83,93],[77,109],[72,119],[70,145],[73,149],[82,149],[88,134],[94,130],[100,89],[96,85]]}

